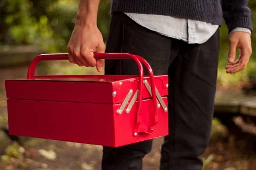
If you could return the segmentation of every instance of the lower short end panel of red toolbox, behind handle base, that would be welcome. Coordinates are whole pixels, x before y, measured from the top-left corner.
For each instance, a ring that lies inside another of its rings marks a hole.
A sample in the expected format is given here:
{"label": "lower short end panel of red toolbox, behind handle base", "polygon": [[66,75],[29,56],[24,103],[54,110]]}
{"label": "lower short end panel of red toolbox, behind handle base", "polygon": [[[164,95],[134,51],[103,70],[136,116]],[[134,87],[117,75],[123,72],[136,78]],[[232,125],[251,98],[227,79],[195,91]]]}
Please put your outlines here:
{"label": "lower short end panel of red toolbox, behind handle base", "polygon": [[[162,97],[167,106],[167,97]],[[158,109],[159,122],[155,126],[155,130],[152,134],[138,134],[133,136],[133,128],[136,124],[137,115],[137,103],[134,103],[129,114],[124,111],[121,115],[114,114],[115,124],[115,147],[128,145],[130,143],[149,140],[157,137],[168,135],[168,112],[164,112],[162,107]],[[114,110],[118,109],[119,105],[114,105]],[[154,124],[153,115],[154,112],[152,99],[142,100],[142,122],[150,127]],[[171,113],[170,113],[171,114]]]}

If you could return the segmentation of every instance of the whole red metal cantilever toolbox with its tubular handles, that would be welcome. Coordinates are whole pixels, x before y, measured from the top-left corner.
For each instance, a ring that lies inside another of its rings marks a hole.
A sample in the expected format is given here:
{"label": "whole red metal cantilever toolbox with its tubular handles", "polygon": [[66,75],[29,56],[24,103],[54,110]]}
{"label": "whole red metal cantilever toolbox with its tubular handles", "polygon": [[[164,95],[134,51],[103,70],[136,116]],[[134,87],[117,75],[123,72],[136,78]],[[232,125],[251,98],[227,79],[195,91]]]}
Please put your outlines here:
{"label": "whole red metal cantilever toolbox with its tubular handles", "polygon": [[40,61],[68,60],[68,54],[39,55],[27,79],[5,81],[9,133],[111,147],[168,135],[168,76],[154,77],[137,55],[95,58],[132,59],[139,75],[34,75]]}

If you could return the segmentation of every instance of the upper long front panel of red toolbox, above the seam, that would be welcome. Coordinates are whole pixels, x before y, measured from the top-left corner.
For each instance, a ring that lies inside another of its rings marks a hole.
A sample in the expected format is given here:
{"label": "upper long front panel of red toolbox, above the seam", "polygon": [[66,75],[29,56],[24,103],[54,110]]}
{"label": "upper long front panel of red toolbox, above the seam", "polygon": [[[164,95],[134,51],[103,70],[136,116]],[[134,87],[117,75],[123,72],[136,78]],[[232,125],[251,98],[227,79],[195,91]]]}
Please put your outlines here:
{"label": "upper long front panel of red toolbox, above the seam", "polygon": [[7,80],[9,99],[112,103],[112,84],[106,82]]}

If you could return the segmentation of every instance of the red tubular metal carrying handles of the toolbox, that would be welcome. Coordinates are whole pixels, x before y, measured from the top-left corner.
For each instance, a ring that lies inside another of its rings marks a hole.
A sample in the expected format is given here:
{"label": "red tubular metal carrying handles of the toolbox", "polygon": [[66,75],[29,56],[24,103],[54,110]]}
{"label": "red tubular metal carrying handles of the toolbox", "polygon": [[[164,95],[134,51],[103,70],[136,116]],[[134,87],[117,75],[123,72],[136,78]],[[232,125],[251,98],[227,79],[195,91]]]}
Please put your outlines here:
{"label": "red tubular metal carrying handles of the toolbox", "polygon": [[[154,74],[151,66],[146,62],[144,58],[138,55],[133,55],[129,53],[94,53],[94,57],[96,60],[99,59],[132,59],[139,68],[139,94],[138,94],[138,113],[137,120],[134,126],[133,134],[137,136],[137,133],[149,133],[151,134],[154,130],[155,124],[158,122],[158,112],[157,112],[157,102],[156,102],[156,90],[155,90],[155,82],[154,82]],[[41,54],[35,57],[29,65],[28,68],[28,79],[34,79],[35,77],[35,68],[41,61],[49,61],[49,60],[69,60],[68,53],[61,54]],[[150,76],[151,89],[152,89],[152,100],[154,105],[154,124],[148,129],[145,124],[142,122],[142,117],[140,114],[141,104],[142,104],[142,86],[143,86],[143,67],[142,64],[146,67],[148,74]]]}

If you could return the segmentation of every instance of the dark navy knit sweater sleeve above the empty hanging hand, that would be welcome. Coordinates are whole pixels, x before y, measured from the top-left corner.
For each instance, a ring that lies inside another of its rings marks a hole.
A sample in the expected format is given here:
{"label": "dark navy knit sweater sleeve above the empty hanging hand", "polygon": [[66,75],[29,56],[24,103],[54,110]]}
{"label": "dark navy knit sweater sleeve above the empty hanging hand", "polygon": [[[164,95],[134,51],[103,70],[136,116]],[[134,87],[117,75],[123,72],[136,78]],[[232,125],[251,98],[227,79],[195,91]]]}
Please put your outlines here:
{"label": "dark navy knit sweater sleeve above the empty hanging hand", "polygon": [[243,27],[253,31],[251,10],[247,7],[248,0],[222,0],[222,10],[228,32]]}

